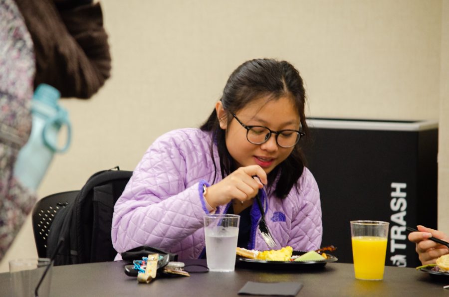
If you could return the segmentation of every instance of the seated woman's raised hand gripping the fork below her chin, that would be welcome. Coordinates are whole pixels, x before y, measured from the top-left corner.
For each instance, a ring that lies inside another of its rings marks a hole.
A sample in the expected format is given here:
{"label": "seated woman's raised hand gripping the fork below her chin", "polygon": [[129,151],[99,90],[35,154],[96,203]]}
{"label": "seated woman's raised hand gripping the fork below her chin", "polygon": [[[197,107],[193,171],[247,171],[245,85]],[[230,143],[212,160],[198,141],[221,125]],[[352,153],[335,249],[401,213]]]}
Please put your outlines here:
{"label": "seated woman's raised hand gripping the fork below her chin", "polygon": [[267,177],[262,167],[239,167],[222,181],[208,187],[205,199],[213,208],[225,205],[232,199],[244,202],[254,197],[263,184],[267,184]]}

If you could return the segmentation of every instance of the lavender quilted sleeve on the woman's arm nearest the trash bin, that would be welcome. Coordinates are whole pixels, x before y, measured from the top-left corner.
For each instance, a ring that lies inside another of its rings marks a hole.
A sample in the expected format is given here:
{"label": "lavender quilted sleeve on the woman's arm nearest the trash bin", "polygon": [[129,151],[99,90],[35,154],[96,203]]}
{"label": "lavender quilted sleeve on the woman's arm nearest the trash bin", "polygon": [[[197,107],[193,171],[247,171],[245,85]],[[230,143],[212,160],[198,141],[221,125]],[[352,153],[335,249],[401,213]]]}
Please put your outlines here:
{"label": "lavender quilted sleeve on the woman's arm nearest the trash bin", "polygon": [[316,250],[321,245],[323,235],[320,192],[307,168],[304,168],[299,184],[298,209],[292,219],[288,245],[305,251]]}

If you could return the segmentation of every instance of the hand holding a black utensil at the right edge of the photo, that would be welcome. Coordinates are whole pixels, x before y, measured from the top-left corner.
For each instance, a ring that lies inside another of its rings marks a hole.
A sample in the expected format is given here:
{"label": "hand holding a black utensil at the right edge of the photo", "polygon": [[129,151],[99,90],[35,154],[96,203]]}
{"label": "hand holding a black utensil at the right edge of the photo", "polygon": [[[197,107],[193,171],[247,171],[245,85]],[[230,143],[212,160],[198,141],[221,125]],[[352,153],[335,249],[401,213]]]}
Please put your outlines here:
{"label": "hand holding a black utensil at the right edge of the photo", "polygon": [[429,238],[433,236],[449,241],[449,237],[445,233],[421,225],[418,226],[418,230],[419,232],[411,232],[409,234],[409,240],[416,243],[416,252],[423,265],[435,263],[435,260],[437,260],[438,257],[449,253],[446,246],[429,240]]}

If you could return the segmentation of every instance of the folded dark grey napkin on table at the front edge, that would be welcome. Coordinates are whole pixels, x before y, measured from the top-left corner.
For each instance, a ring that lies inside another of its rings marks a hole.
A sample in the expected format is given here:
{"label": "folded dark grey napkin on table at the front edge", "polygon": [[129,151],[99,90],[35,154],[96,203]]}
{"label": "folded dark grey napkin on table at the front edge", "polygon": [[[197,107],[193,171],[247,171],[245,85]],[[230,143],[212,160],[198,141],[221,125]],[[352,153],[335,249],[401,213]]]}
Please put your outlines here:
{"label": "folded dark grey napkin on table at the front edge", "polygon": [[238,295],[269,295],[269,296],[296,296],[302,289],[302,284],[285,283],[256,283],[246,282]]}

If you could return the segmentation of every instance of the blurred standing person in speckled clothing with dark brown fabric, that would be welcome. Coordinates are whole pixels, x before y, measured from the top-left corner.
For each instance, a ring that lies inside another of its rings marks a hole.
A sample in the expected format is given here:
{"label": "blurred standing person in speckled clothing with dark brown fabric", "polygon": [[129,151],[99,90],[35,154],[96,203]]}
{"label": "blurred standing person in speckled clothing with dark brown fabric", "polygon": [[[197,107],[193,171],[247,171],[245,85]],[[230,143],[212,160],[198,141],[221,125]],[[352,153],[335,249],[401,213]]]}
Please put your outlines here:
{"label": "blurred standing person in speckled clothing with dark brown fabric", "polygon": [[99,3],[0,0],[0,260],[37,197],[13,177],[31,131],[33,90],[90,98],[110,76],[111,56]]}

